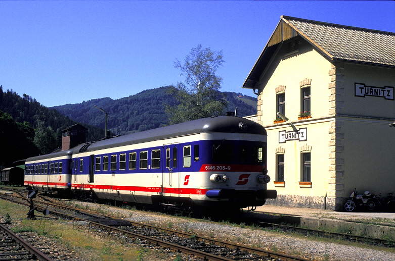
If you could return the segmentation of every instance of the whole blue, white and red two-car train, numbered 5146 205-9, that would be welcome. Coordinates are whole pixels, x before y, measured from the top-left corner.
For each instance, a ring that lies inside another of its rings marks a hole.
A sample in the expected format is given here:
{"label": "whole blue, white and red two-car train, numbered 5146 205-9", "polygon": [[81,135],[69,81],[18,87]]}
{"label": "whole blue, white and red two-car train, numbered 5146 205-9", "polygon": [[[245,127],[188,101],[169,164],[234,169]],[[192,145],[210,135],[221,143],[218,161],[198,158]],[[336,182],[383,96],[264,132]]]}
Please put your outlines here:
{"label": "whole blue, white and red two-car train, numbered 5146 205-9", "polygon": [[84,142],[26,159],[24,185],[175,210],[238,210],[276,198],[268,190],[267,132],[216,116]]}

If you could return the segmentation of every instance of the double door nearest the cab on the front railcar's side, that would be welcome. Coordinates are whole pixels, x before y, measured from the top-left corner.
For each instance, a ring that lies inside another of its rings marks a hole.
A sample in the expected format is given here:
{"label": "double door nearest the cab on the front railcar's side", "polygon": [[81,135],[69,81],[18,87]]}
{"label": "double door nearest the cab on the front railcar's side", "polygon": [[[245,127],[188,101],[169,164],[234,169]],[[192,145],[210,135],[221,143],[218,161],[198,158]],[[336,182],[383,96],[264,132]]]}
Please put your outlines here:
{"label": "double door nearest the cab on the front railcar's side", "polygon": [[163,146],[165,164],[163,165],[162,190],[164,196],[178,195],[180,188],[178,150],[177,144]]}

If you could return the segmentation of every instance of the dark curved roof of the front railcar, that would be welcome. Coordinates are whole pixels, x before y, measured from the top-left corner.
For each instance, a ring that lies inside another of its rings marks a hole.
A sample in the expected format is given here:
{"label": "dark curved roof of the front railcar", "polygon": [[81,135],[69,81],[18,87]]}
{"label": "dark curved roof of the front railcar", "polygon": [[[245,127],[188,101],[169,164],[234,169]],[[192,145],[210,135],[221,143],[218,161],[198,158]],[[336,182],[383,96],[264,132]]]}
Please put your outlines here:
{"label": "dark curved roof of the front railcar", "polygon": [[[247,128],[243,129],[239,127],[241,124],[244,124]],[[256,122],[234,116],[217,116],[114,137],[93,143],[80,144],[73,148],[73,153],[209,132],[267,135],[265,128]]]}

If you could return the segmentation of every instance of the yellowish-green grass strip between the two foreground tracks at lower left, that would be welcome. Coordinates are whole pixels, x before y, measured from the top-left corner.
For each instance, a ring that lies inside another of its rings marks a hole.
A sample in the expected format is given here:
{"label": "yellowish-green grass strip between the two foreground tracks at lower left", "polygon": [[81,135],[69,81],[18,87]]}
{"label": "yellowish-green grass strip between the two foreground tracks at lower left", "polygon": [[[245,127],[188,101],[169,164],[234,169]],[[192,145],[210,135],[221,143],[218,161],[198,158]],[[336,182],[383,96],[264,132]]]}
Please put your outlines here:
{"label": "yellowish-green grass strip between the two foreground tracks at lower left", "polygon": [[[142,253],[144,253],[144,260],[167,259],[163,253],[143,249],[138,245],[139,240],[135,240],[135,244],[131,244],[123,238],[100,236],[87,231],[86,227],[78,225],[77,222],[47,219],[28,220],[25,219],[26,213],[26,207],[0,200],[0,216],[10,222],[19,223],[12,229],[15,233],[35,232],[38,235],[46,236],[63,244],[70,251],[74,251],[74,254],[88,260],[122,261],[138,260],[139,258],[143,260]],[[157,258],[152,255],[156,255]]]}

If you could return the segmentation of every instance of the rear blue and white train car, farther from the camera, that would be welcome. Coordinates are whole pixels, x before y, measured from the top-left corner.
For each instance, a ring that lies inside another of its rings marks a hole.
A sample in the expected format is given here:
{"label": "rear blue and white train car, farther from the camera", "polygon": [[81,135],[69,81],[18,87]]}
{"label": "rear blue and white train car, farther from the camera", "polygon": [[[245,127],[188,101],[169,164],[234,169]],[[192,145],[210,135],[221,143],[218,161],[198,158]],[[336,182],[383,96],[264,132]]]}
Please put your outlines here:
{"label": "rear blue and white train car, farther from the camera", "polygon": [[25,186],[41,192],[71,192],[72,150],[26,159]]}

